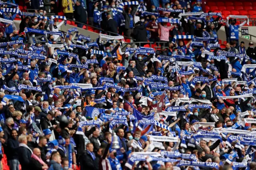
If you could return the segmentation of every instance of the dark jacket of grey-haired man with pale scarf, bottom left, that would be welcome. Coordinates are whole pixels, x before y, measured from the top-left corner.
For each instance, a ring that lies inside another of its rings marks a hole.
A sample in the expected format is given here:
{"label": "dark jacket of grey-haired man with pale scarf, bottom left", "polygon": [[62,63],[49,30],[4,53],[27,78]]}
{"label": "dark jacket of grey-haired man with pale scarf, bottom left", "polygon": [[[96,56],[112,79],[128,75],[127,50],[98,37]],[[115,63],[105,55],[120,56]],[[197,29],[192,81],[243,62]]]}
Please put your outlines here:
{"label": "dark jacket of grey-haired man with pale scarf, bottom left", "polygon": [[17,152],[20,165],[22,166],[22,170],[30,170],[30,159],[32,154],[30,150],[28,150],[28,148],[20,146]]}

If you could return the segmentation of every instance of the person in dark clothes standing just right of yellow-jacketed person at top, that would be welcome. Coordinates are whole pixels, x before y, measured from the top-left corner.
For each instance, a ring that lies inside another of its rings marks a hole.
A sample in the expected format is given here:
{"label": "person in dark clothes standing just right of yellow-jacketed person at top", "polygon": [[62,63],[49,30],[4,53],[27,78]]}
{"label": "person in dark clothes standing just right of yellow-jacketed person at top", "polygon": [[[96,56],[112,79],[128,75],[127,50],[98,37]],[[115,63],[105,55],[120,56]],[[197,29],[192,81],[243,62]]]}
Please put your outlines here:
{"label": "person in dark clothes standing just right of yellow-jacketed person at top", "polygon": [[[81,23],[84,23],[84,24],[87,23],[87,14],[86,14],[85,9],[82,7],[81,2],[79,0],[76,1],[74,18],[76,19],[77,22],[81,22]],[[77,23],[77,26],[79,28],[82,28],[83,24]]]}

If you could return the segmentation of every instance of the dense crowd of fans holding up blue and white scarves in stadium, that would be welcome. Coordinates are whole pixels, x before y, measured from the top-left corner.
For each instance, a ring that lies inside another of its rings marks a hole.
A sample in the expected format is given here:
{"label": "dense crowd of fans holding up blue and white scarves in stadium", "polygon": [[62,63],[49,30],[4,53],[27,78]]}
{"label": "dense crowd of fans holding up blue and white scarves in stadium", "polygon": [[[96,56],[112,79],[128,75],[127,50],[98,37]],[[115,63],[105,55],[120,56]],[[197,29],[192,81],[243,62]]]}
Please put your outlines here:
{"label": "dense crowd of fans holding up blue and white scarves in stadium", "polygon": [[[6,155],[10,170],[256,170],[256,52],[252,42],[248,49],[239,42],[246,21],[236,24],[246,17],[228,17],[230,42],[222,50],[222,16],[200,12],[199,1],[192,10],[184,0],[162,2],[165,18],[155,14],[154,0],[152,13],[143,2],[120,3],[115,15],[125,24],[118,31],[168,43],[155,51],[119,35],[91,42],[77,28],[60,32],[73,9],[75,18],[79,6],[88,11],[85,1],[73,8],[62,0],[65,17],[47,17],[45,0],[38,13],[12,2],[0,2],[0,158]],[[101,3],[100,15],[112,19],[116,2],[90,1],[89,20]],[[138,19],[144,13],[151,17]]]}

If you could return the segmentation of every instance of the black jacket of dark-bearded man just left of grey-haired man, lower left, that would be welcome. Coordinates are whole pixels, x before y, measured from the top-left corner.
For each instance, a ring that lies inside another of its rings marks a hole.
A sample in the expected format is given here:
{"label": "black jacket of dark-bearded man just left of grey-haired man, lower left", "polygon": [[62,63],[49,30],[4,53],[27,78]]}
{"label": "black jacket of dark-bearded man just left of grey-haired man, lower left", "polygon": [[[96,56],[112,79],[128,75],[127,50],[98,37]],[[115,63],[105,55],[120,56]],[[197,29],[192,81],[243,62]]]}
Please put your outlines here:
{"label": "black jacket of dark-bearded man just left of grey-haired man, lower left", "polygon": [[14,139],[13,137],[10,137],[7,141],[7,150],[8,152],[6,152],[6,156],[8,160],[18,160],[18,153],[17,153],[17,149],[19,147],[19,142],[17,139]]}

